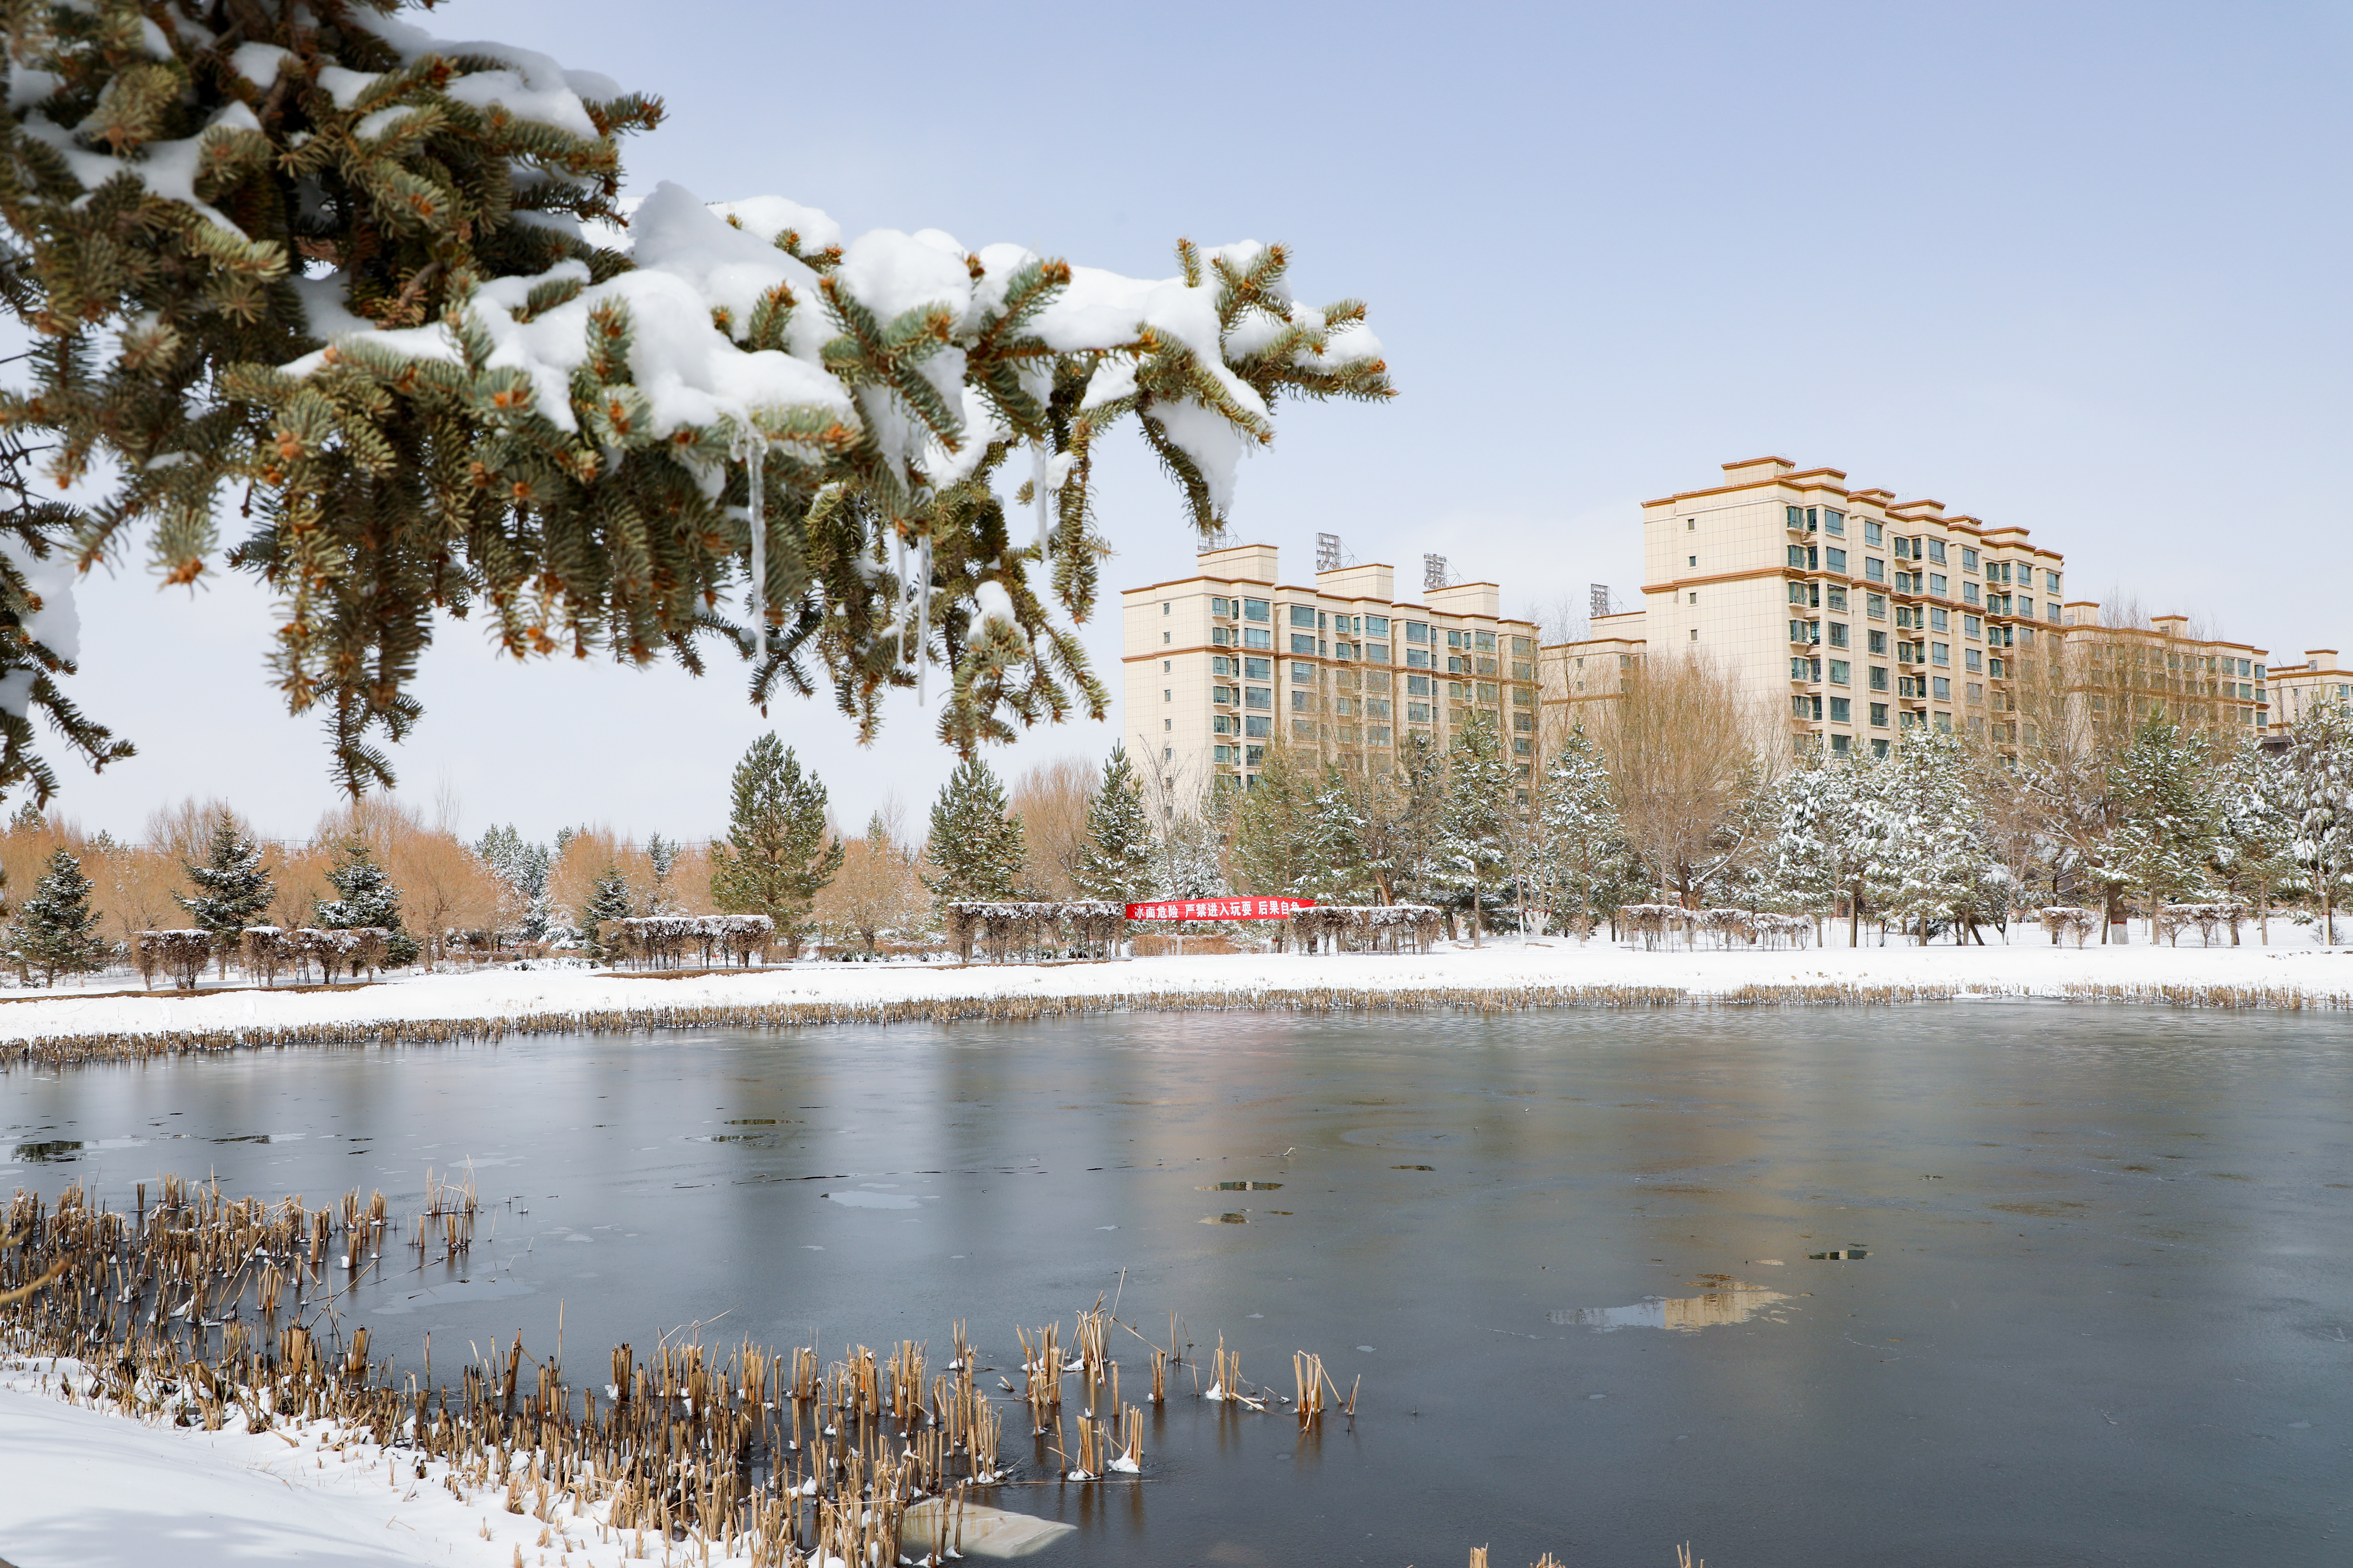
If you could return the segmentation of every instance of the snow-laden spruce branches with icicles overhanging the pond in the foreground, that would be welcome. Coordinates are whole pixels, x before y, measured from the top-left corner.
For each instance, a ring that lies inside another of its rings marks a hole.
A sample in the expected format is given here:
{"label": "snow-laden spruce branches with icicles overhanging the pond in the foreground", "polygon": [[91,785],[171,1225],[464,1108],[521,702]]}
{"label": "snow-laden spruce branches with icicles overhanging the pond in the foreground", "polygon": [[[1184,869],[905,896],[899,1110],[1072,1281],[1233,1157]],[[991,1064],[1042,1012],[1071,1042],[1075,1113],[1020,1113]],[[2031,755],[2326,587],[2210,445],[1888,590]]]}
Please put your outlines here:
{"label": "snow-laden spruce branches with icicles overhanging the pond in the foreground", "polygon": [[[1136,416],[1209,529],[1285,393],[1391,395],[1362,303],[1297,306],[1282,247],[1181,244],[1153,327],[1127,308],[1146,284],[1012,244],[845,247],[776,197],[720,216],[666,186],[602,249],[619,139],[661,103],[402,9],[28,0],[0,115],[7,303],[35,341],[0,425],[59,433],[59,487],[106,475],[28,527],[82,559],[144,534],[193,583],[242,491],[228,564],[282,597],[273,679],[327,708],[353,792],[391,783],[379,741],[419,717],[442,607],[515,656],[699,672],[718,642],[758,703],[812,691],[816,654],[866,729],[944,663],[967,750],[1073,689],[1101,717],[1049,616],[1092,611],[1094,442]],[[998,480],[1031,451],[1019,529]],[[66,665],[28,654],[47,701]]]}

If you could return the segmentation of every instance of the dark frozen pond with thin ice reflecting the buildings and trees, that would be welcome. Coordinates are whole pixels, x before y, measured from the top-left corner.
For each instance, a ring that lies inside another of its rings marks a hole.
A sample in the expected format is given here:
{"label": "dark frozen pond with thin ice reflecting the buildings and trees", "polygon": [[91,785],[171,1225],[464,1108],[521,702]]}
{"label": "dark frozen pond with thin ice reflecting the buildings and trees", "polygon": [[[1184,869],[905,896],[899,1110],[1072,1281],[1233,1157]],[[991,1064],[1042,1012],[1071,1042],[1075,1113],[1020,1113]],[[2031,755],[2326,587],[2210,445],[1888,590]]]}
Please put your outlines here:
{"label": "dark frozen pond with thin ice reflecting the buildings and trees", "polygon": [[1981,1004],[285,1051],[9,1072],[0,1190],[407,1215],[471,1159],[471,1262],[351,1302],[407,1366],[558,1305],[574,1371],[692,1321],[1012,1366],[1125,1269],[1205,1359],[1362,1375],[1320,1439],[1176,1375],[1141,1483],[998,1497],[1082,1526],[1040,1563],[2285,1568],[2353,1552],[2348,1046]]}

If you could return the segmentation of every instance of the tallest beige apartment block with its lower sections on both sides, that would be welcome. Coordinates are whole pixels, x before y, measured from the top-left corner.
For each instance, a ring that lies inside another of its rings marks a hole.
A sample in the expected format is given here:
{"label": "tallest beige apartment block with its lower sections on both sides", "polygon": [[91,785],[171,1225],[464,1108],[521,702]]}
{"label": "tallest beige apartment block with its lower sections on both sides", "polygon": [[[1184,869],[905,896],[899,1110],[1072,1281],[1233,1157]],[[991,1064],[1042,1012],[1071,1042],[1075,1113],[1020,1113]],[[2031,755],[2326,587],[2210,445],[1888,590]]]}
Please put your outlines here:
{"label": "tallest beige apartment block with its lower sections on both sides", "polygon": [[2021,668],[2042,654],[2075,682],[2094,644],[2139,670],[2155,656],[2172,670],[2155,689],[2169,679],[2219,722],[2266,724],[2261,649],[2191,637],[2179,616],[2104,628],[2064,595],[2066,559],[2026,529],[1849,489],[1835,468],[1725,463],[1722,484],[1642,505],[1642,609],[1544,649],[1546,729],[1678,649],[1715,658],[1795,750],[1885,755],[1913,726],[2002,743],[2019,738]]}

